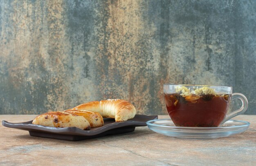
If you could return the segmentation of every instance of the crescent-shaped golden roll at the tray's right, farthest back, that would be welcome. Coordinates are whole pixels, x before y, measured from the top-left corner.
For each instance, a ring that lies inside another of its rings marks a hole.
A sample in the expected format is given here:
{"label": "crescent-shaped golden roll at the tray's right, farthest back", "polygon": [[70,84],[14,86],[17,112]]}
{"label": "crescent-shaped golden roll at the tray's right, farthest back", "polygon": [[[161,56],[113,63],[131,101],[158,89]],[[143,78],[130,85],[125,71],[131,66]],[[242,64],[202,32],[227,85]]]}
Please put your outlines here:
{"label": "crescent-shaped golden roll at the tray's right, farthest back", "polygon": [[76,106],[73,109],[98,112],[103,118],[115,118],[116,122],[132,119],[136,114],[135,107],[130,102],[121,99],[92,101]]}

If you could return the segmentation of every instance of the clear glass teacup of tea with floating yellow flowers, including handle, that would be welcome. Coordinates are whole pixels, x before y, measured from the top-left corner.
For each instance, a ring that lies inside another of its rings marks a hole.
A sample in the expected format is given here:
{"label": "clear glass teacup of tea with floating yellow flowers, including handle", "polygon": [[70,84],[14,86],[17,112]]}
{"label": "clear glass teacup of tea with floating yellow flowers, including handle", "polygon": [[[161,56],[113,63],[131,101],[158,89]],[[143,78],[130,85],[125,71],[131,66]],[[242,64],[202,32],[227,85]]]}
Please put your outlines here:
{"label": "clear glass teacup of tea with floating yellow flowers, including handle", "polygon": [[[227,114],[236,98],[242,101],[242,106]],[[179,127],[218,127],[243,114],[248,107],[247,98],[240,93],[232,94],[229,86],[164,84],[164,99],[169,116]]]}

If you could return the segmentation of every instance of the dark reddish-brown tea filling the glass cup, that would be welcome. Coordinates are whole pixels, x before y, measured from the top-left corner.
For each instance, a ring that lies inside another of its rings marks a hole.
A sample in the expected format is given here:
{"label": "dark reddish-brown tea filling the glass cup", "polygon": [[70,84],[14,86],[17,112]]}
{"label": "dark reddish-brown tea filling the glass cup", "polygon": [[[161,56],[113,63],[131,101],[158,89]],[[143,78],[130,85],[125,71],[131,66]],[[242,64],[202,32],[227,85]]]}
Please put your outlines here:
{"label": "dark reddish-brown tea filling the glass cup", "polygon": [[176,126],[218,127],[227,114],[231,94],[165,94],[164,98]]}

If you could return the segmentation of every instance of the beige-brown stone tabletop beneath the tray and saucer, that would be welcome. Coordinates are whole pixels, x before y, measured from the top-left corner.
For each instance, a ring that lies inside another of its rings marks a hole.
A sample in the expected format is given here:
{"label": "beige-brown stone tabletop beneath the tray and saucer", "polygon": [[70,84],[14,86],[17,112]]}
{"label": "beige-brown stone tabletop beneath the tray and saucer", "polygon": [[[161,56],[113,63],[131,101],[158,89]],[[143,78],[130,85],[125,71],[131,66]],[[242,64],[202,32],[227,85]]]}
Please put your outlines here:
{"label": "beige-brown stone tabletop beneath the tray and saucer", "polygon": [[[0,115],[0,120],[26,122],[35,116]],[[0,125],[0,165],[255,166],[256,115],[234,119],[251,125],[244,133],[216,140],[181,140],[136,127],[130,133],[72,142],[31,137],[28,131]]]}

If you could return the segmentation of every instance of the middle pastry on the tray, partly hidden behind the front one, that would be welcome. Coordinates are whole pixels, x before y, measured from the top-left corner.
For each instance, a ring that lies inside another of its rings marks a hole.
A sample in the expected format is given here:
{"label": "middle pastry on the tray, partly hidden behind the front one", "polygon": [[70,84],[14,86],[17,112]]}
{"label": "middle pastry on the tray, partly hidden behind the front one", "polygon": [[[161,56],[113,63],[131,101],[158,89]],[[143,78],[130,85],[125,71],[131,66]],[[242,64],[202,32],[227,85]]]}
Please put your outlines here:
{"label": "middle pastry on the tray, partly hidden behind the front one", "polygon": [[79,109],[76,109],[76,110],[68,109],[68,110],[65,110],[64,112],[78,115],[78,116],[83,116],[85,119],[88,120],[91,127],[101,127],[101,126],[103,126],[103,123],[104,123],[101,114],[99,114],[97,112],[87,111],[87,110],[79,110]]}

